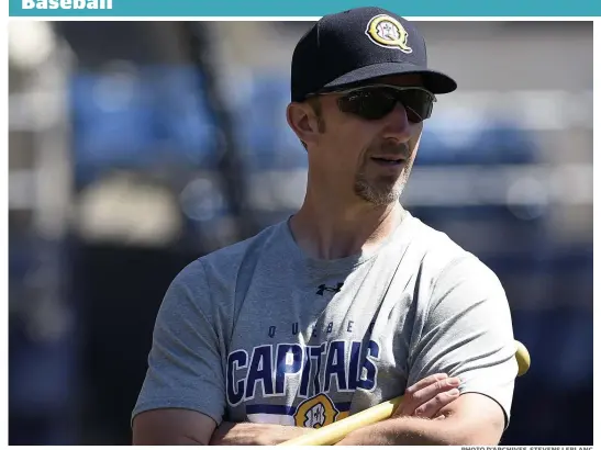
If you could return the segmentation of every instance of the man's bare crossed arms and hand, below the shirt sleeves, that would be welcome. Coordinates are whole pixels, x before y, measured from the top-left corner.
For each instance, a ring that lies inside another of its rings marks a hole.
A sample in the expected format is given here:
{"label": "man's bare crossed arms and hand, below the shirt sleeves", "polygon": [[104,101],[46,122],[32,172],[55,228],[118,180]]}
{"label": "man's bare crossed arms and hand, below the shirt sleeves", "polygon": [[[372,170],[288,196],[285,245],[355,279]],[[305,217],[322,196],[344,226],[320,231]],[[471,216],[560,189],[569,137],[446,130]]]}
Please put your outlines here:
{"label": "man's bare crossed arms and hand, below the shirt sleeves", "polygon": [[[497,402],[480,394],[458,396],[455,379],[429,376],[404,394],[393,417],[350,432],[342,446],[361,445],[497,445],[504,416]],[[134,445],[277,445],[311,428],[269,424],[216,424],[187,409],[156,409],[133,423]]]}

